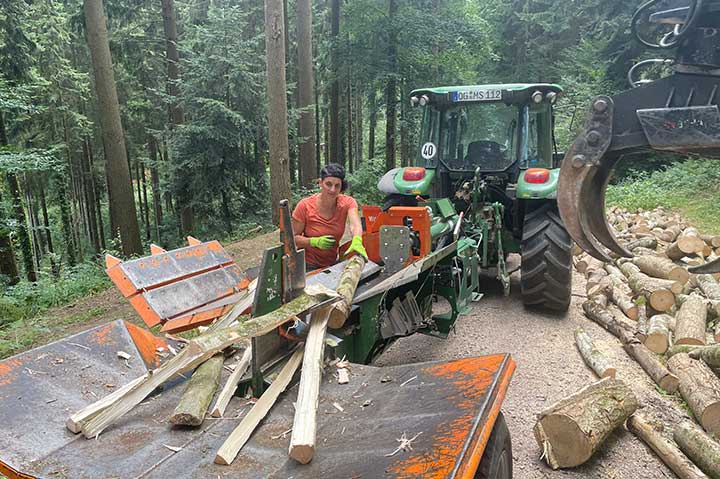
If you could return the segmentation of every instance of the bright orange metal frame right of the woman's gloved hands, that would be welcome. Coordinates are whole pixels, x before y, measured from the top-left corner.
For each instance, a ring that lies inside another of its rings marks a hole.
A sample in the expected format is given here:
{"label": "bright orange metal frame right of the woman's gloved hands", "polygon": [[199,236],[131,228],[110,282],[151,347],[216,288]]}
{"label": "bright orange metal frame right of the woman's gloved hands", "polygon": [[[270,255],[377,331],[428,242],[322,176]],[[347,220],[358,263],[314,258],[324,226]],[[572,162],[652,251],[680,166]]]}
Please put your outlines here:
{"label": "bright orange metal frame right of the woman's gloved hands", "polygon": [[422,206],[394,206],[382,211],[378,206],[364,205],[362,207],[365,219],[365,232],[363,246],[371,261],[379,262],[380,258],[380,227],[406,226],[412,222],[411,229],[420,238],[420,254],[411,255],[408,262],[412,263],[430,254],[432,244],[430,235],[431,217],[427,208]]}

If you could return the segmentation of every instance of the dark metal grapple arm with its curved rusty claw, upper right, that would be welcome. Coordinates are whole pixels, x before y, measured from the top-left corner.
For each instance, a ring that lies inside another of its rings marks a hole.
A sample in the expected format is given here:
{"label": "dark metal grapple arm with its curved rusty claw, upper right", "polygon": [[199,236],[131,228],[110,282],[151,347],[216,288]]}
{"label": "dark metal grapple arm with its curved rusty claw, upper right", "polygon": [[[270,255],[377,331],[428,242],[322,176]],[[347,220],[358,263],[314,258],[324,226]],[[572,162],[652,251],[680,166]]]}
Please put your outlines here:
{"label": "dark metal grapple arm with its curved rusty claw, upper right", "polygon": [[585,130],[563,160],[560,214],[575,242],[604,261],[611,260],[605,248],[632,256],[605,218],[605,189],[624,155],[654,149],[720,158],[720,0],[695,0],[690,7],[654,16],[682,16],[683,10],[691,18],[675,20],[683,24],[671,32],[683,32],[674,73],[612,97],[597,97]]}

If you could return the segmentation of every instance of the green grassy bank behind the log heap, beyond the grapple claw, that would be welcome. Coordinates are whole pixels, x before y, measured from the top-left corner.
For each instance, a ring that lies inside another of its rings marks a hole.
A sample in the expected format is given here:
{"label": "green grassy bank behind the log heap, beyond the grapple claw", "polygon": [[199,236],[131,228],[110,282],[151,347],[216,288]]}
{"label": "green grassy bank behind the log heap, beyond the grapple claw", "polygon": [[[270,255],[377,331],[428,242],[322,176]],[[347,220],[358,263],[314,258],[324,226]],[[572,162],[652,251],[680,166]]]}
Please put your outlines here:
{"label": "green grassy bank behind the log heap, beyond the grapple claw", "polygon": [[706,233],[720,234],[717,204],[720,201],[720,170],[716,163],[692,159],[654,172],[638,172],[610,185],[608,205],[630,210],[664,206],[681,211]]}

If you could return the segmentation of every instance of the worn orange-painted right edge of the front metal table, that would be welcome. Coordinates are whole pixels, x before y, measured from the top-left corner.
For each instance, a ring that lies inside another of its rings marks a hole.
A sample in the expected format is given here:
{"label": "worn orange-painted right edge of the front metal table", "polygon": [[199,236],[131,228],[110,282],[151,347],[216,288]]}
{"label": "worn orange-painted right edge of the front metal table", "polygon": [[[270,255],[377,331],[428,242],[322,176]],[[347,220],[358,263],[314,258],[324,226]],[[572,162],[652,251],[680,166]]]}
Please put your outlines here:
{"label": "worn orange-painted right edge of the front metal table", "polygon": [[[493,370],[499,371],[496,377],[487,374]],[[450,400],[467,412],[434,431],[434,444],[425,448],[423,454],[395,463],[388,472],[396,479],[474,477],[514,371],[515,362],[503,354],[461,359],[424,369],[423,372],[431,376],[451,381],[459,394]],[[477,403],[490,390],[495,393],[489,398],[487,412],[478,417]],[[460,463],[458,458],[462,458]]]}

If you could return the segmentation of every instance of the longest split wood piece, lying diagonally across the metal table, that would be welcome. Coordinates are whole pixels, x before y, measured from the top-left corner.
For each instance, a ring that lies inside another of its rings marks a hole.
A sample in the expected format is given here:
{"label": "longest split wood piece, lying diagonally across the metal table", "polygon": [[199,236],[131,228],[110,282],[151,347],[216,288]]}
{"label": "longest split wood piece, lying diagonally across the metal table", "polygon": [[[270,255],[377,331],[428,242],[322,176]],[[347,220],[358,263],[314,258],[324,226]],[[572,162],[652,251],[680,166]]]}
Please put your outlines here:
{"label": "longest split wood piece, lying diagonally across the metal table", "polygon": [[308,311],[331,298],[337,300],[337,293],[321,286],[311,286],[306,288],[303,294],[271,313],[244,321],[231,328],[220,329],[193,338],[177,356],[151,373],[147,373],[142,381],[87,421],[82,428],[83,435],[87,438],[96,437],[139,404],[156,387],[175,375],[196,368],[228,346],[247,343],[249,338],[262,336],[287,322],[289,318]]}

